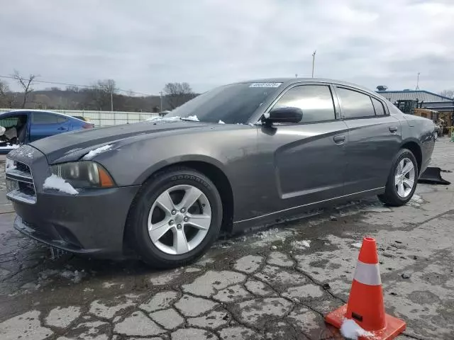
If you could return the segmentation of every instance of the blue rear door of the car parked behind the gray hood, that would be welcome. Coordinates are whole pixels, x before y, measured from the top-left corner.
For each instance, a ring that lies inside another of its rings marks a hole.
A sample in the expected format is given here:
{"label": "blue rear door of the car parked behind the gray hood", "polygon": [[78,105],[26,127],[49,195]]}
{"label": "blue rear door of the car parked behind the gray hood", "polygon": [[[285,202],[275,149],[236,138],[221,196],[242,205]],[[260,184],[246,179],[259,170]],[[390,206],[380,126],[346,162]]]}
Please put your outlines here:
{"label": "blue rear door of the car parked behind the gray hood", "polygon": [[31,142],[70,130],[70,120],[64,115],[50,112],[33,112],[31,115]]}

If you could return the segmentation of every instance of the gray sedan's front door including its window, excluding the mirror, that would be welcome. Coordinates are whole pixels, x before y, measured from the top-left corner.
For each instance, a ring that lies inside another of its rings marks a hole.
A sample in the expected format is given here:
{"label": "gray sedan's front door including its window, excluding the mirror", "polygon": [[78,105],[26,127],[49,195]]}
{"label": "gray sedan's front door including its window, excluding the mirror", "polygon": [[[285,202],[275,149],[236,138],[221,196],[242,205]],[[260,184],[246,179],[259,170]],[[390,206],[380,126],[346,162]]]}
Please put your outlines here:
{"label": "gray sedan's front door including its window, excluding the mirror", "polygon": [[292,106],[303,112],[300,123],[272,125],[259,132],[259,148],[274,164],[279,209],[343,196],[348,129],[336,118],[331,86],[297,84],[270,109]]}

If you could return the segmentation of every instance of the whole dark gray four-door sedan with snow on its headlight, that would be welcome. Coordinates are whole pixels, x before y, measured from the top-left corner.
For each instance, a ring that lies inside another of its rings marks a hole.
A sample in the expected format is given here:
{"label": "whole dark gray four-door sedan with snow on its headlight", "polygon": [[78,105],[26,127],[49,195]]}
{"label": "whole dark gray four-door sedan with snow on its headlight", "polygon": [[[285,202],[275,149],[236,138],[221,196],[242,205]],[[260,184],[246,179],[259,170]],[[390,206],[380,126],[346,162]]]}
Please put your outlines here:
{"label": "whole dark gray four-door sedan with snow on its headlight", "polygon": [[60,249],[182,266],[221,230],[378,195],[411,199],[431,120],[326,79],[218,87],[160,120],[45,138],[8,155],[15,227]]}

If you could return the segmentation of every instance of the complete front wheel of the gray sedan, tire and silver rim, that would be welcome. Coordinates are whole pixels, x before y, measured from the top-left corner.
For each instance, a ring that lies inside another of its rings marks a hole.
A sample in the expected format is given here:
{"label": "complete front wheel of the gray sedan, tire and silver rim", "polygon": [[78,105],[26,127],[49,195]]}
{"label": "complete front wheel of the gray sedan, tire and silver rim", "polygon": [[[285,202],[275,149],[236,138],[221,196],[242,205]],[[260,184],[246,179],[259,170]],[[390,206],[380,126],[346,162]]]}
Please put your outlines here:
{"label": "complete front wheel of the gray sedan, tire and silver rim", "polygon": [[221,197],[204,174],[171,168],[145,183],[128,218],[131,246],[158,268],[198,259],[218,237]]}

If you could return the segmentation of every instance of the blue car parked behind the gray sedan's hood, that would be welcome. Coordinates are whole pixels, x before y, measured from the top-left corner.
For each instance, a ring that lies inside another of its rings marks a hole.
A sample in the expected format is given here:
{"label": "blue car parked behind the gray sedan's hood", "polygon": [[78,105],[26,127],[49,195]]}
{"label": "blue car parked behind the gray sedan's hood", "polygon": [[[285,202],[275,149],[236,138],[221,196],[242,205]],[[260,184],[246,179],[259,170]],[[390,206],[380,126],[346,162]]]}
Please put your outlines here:
{"label": "blue car parked behind the gray sedan's hood", "polygon": [[7,154],[19,145],[62,132],[91,129],[84,120],[40,110],[15,110],[0,114],[0,154]]}

